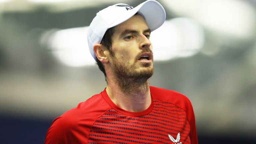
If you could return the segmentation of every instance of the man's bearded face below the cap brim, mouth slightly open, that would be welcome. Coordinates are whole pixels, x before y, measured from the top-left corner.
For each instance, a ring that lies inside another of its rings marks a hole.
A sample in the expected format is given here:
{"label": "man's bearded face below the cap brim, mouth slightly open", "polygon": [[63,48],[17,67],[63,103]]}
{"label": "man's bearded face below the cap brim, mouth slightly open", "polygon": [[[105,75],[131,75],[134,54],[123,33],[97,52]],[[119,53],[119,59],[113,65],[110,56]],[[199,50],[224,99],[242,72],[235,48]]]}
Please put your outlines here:
{"label": "man's bearded face below the cap brim, mouth slightly open", "polygon": [[136,14],[114,28],[109,61],[114,74],[125,78],[150,78],[154,73],[150,29]]}

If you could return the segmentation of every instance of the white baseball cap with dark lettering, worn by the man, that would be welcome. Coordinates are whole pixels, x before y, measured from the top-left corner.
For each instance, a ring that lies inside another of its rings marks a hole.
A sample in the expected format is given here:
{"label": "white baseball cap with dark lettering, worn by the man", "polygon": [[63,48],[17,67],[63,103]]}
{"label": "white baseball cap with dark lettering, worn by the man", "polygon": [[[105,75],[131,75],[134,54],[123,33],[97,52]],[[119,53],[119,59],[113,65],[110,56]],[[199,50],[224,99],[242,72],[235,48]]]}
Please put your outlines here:
{"label": "white baseball cap with dark lettering, worn by the man", "polygon": [[118,3],[99,11],[87,31],[89,50],[95,60],[94,44],[101,42],[109,28],[125,22],[136,13],[144,17],[151,31],[159,28],[166,18],[163,6],[155,0],[147,0],[134,8],[128,4]]}

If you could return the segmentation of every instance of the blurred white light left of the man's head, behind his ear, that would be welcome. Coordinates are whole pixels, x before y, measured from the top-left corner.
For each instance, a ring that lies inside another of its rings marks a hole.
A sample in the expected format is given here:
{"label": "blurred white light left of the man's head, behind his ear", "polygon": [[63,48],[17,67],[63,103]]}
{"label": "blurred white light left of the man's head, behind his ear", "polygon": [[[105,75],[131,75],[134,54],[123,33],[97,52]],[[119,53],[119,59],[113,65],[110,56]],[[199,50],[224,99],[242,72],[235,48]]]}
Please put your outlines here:
{"label": "blurred white light left of the man's head, behind his ear", "polygon": [[48,37],[47,47],[63,64],[71,67],[94,65],[87,44],[88,27],[59,30]]}

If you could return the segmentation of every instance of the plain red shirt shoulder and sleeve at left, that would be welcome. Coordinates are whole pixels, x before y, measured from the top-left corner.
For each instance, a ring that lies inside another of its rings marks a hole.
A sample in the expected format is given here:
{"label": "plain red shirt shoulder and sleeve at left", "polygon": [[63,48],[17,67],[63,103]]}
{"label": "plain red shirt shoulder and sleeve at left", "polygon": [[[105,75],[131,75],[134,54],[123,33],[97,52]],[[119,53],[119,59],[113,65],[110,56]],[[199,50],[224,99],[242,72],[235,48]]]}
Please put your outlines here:
{"label": "plain red shirt shoulder and sleeve at left", "polygon": [[94,121],[109,109],[110,106],[102,98],[101,94],[92,96],[88,100],[79,103],[77,107],[54,119],[47,131],[46,141],[57,140],[61,142],[67,137],[69,139],[72,139],[72,137],[79,138],[79,136],[76,136],[78,131],[84,137],[87,137]]}

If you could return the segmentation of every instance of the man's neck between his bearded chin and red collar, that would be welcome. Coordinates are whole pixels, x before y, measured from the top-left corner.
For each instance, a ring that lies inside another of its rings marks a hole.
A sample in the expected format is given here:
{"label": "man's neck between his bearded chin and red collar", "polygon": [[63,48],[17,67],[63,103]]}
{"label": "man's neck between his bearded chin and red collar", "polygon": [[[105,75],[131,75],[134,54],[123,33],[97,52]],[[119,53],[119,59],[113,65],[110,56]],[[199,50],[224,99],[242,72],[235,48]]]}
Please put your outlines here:
{"label": "man's neck between his bearded chin and red collar", "polygon": [[140,112],[151,104],[148,79],[114,79],[107,78],[107,94],[120,108]]}

